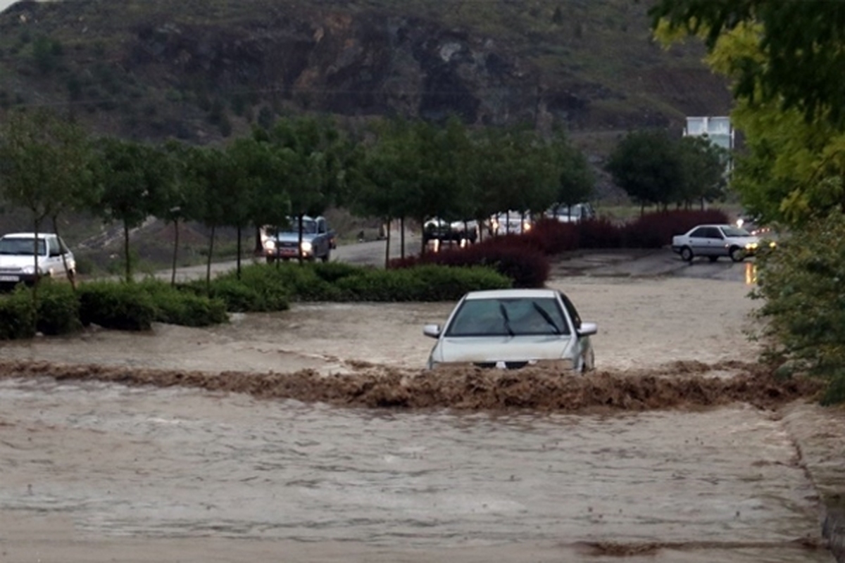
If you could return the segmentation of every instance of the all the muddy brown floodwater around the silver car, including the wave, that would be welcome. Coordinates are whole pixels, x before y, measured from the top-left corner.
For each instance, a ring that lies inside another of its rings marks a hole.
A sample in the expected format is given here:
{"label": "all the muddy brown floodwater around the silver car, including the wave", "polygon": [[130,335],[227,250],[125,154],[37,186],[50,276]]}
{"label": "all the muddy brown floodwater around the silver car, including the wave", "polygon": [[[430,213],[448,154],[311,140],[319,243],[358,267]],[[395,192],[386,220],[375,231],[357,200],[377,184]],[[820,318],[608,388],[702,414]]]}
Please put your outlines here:
{"label": "all the muddy brown floodwater around the silver car, including the wave", "polygon": [[[592,386],[426,379],[449,304],[3,344],[0,561],[833,560],[789,426],[812,389],[755,374],[747,287],[553,285],[599,324]],[[379,378],[400,406],[343,399]]]}

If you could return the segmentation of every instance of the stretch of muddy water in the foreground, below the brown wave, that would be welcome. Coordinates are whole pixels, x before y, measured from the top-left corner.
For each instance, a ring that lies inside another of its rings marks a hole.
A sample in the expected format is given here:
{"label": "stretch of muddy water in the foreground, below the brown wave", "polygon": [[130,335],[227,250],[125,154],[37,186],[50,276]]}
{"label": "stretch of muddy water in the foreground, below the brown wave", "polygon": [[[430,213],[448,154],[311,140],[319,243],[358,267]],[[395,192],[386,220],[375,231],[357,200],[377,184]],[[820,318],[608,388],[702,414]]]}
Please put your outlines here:
{"label": "stretch of muddy water in the foreground, below the brown wave", "polygon": [[741,405],[390,412],[47,379],[2,382],[0,397],[18,406],[0,425],[0,513],[61,514],[82,542],[830,560],[804,545],[817,542],[818,507],[792,441],[777,417]]}

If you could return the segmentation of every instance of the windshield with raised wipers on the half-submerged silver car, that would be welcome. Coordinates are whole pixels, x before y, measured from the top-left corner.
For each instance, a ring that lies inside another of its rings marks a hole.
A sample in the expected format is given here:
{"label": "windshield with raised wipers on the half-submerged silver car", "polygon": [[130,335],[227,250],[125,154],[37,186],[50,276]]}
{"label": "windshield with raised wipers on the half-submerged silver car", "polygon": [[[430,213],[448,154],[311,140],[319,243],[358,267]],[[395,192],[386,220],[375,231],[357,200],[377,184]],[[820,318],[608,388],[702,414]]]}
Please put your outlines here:
{"label": "windshield with raised wipers on the half-submerged silver car", "polygon": [[446,336],[569,334],[569,324],[552,297],[469,299],[455,312]]}

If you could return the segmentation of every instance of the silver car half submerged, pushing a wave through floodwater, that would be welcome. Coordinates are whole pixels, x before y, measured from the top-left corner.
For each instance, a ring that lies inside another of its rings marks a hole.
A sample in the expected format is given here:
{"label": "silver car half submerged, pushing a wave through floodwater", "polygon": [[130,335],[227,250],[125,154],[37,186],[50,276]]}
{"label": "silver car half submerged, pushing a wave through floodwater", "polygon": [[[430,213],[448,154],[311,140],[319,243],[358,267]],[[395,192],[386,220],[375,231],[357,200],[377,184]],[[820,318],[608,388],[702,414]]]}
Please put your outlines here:
{"label": "silver car half submerged, pushing a wave through floodwater", "polygon": [[423,334],[437,338],[428,369],[548,364],[589,371],[595,365],[590,336],[597,331],[560,291],[489,290],[464,295],[443,328],[429,324]]}

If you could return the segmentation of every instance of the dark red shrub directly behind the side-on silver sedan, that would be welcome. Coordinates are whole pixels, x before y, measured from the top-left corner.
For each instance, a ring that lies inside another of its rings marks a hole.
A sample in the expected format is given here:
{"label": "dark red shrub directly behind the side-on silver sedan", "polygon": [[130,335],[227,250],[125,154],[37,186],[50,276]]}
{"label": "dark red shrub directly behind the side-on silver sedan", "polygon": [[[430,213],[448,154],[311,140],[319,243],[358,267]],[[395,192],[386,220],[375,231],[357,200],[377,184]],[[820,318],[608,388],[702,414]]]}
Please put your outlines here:
{"label": "dark red shrub directly behind the side-on silver sedan", "polygon": [[673,235],[705,223],[728,223],[728,215],[719,209],[703,211],[675,210],[645,214],[622,229],[622,246],[660,248],[672,243]]}

